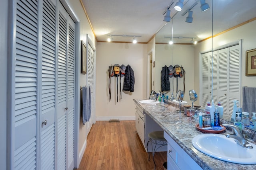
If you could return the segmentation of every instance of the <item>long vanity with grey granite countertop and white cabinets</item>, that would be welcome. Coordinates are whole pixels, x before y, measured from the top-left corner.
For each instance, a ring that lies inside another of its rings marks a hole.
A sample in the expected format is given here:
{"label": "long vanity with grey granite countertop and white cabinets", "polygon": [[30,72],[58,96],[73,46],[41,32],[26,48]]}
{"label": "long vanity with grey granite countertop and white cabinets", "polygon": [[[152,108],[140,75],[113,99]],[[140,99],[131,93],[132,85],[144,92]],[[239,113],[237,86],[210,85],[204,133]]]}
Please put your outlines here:
{"label": "long vanity with grey granite countertop and white cabinets", "polygon": [[[136,110],[140,108],[142,115],[144,115],[144,136],[145,146],[146,136],[154,129],[160,127],[164,131],[164,137],[168,141],[168,170],[172,169],[204,169],[204,170],[230,170],[230,169],[246,169],[255,170],[256,165],[235,164],[216,158],[207,156],[198,151],[192,145],[192,139],[196,135],[203,134],[196,130],[195,125],[197,121],[194,118],[187,117],[183,113],[176,113],[178,104],[159,103],[159,104],[141,104],[139,99],[134,99]],[[148,119],[147,119],[148,117]],[[138,117],[136,117],[138,120]],[[136,121],[137,121],[136,120]],[[149,121],[147,121],[149,120]],[[150,121],[151,120],[151,121]],[[146,127],[152,127],[151,131]],[[137,129],[137,125],[136,125]],[[137,129],[138,131],[138,129]],[[141,131],[143,133],[143,129]],[[224,131],[224,133],[226,133]],[[250,141],[255,143],[255,141]]]}

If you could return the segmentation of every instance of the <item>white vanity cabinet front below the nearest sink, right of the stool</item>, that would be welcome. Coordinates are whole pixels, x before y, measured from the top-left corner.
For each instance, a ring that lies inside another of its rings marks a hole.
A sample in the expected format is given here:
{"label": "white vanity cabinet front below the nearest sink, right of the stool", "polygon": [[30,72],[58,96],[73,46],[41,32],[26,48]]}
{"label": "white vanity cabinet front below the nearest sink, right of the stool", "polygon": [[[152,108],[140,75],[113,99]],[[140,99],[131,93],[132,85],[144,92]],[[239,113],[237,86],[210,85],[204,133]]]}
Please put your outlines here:
{"label": "white vanity cabinet front below the nearest sink, right of the stool", "polygon": [[164,131],[168,142],[168,170],[202,170],[202,168]]}

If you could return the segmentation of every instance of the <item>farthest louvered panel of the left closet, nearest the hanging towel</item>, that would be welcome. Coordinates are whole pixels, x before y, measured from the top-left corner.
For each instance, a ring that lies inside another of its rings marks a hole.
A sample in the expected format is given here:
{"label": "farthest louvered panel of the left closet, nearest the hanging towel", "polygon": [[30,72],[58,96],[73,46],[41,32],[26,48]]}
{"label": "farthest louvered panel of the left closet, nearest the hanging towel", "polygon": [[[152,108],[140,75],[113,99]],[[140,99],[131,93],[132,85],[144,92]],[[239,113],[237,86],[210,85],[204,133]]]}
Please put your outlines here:
{"label": "farthest louvered panel of the left closet, nearest the hanging towel", "polygon": [[74,168],[75,23],[68,16],[67,169]]}

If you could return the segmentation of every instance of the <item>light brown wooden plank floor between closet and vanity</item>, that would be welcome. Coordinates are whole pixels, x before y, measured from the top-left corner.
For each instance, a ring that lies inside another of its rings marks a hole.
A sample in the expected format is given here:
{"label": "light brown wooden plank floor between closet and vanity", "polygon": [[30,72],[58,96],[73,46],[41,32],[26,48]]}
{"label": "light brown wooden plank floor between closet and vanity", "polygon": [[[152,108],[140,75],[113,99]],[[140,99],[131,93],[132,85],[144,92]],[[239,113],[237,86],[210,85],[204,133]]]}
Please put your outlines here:
{"label": "light brown wooden plank floor between closet and vanity", "polygon": [[[156,170],[163,170],[167,152],[156,152]],[[96,121],[78,170],[154,170],[152,153],[143,148],[135,121]]]}

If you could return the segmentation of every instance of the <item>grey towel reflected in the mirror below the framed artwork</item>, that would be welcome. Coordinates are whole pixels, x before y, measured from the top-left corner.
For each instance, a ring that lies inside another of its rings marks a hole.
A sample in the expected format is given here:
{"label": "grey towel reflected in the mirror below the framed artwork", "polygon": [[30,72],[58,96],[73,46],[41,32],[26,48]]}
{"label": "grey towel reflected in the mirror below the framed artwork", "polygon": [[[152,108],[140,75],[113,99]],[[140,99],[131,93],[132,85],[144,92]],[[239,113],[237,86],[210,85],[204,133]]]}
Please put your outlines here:
{"label": "grey towel reflected in the mirror below the framed artwork", "polygon": [[256,87],[243,87],[243,106],[242,111],[256,112]]}

